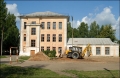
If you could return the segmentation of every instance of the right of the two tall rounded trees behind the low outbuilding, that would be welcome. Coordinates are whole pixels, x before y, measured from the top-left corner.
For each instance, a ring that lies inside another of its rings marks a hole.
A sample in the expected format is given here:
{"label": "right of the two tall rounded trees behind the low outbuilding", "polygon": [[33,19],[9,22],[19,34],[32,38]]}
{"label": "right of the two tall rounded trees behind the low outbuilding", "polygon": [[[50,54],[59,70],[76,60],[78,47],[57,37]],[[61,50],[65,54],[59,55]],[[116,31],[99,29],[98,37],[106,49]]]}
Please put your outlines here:
{"label": "right of the two tall rounded trees behind the low outbuilding", "polygon": [[92,22],[90,25],[89,37],[96,38],[98,37],[99,33],[100,33],[99,25],[96,23],[96,21]]}

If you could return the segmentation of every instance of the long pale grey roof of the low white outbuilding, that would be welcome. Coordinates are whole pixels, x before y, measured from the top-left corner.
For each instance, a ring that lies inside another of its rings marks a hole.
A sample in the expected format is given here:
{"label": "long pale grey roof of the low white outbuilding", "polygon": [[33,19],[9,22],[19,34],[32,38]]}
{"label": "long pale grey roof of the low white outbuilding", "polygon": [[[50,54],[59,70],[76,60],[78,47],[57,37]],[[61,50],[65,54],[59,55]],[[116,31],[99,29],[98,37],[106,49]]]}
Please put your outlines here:
{"label": "long pale grey roof of the low white outbuilding", "polygon": [[[72,44],[72,38],[69,38],[67,44]],[[73,38],[73,44],[75,45],[105,45],[105,44],[116,44],[111,41],[110,38]]]}

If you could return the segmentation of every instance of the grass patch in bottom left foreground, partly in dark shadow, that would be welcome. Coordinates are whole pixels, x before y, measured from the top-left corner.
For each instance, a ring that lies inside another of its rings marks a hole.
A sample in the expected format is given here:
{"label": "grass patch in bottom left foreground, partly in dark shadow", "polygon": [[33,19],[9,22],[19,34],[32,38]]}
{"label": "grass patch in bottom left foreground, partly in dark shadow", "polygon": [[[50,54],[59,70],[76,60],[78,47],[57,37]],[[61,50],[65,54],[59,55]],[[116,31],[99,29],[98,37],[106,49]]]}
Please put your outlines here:
{"label": "grass patch in bottom left foreground, partly in dark shadow", "polygon": [[0,78],[70,78],[51,70],[33,67],[19,67],[1,64]]}

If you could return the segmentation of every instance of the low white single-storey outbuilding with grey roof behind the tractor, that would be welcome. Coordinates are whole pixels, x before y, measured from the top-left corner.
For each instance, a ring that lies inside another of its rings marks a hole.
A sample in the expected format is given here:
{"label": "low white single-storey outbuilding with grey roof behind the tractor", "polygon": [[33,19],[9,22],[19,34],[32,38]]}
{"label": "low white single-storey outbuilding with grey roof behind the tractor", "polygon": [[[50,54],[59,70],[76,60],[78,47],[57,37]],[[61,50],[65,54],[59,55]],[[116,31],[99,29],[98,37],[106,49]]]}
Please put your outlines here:
{"label": "low white single-storey outbuilding with grey roof behind the tractor", "polygon": [[88,44],[91,46],[92,56],[119,56],[119,45],[110,38],[69,38],[67,50],[72,46],[79,46],[83,51]]}

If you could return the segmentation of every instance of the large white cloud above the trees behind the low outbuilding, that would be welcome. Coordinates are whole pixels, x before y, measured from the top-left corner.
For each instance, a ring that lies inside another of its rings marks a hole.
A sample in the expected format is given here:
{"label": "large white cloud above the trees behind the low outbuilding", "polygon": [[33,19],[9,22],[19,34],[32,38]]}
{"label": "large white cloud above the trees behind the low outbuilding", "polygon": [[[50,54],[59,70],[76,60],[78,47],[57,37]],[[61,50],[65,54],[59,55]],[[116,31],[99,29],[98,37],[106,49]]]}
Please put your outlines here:
{"label": "large white cloud above the trees behind the low outbuilding", "polygon": [[[105,7],[100,13],[89,13],[88,16],[84,16],[81,20],[78,20],[76,22],[85,22],[89,26],[93,21],[96,21],[97,24],[105,25],[105,24],[111,24],[114,29],[116,29],[116,37],[119,37],[119,24],[120,24],[120,16],[118,19],[115,19],[115,15],[111,12],[112,7]],[[98,11],[99,8],[97,7],[95,11]],[[79,26],[79,25],[76,25]]]}

